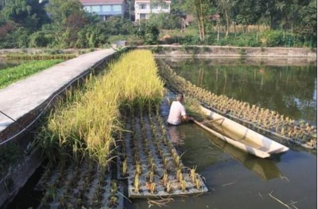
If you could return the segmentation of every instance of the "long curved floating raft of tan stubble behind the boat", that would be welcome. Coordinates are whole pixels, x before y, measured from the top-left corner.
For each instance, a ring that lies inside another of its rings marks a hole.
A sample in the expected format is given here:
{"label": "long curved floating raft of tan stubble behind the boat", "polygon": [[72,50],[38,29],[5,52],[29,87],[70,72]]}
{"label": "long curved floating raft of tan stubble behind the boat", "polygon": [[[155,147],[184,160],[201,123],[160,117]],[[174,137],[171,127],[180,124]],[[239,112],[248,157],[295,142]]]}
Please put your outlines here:
{"label": "long curved floating raft of tan stubble behind the boat", "polygon": [[157,60],[157,62],[160,66],[160,75],[172,90],[183,92],[218,113],[224,114],[230,110],[230,117],[247,123],[258,130],[288,139],[306,148],[317,149],[317,127],[302,121],[295,122],[276,111],[250,105],[225,95],[215,95],[177,75],[162,60]]}

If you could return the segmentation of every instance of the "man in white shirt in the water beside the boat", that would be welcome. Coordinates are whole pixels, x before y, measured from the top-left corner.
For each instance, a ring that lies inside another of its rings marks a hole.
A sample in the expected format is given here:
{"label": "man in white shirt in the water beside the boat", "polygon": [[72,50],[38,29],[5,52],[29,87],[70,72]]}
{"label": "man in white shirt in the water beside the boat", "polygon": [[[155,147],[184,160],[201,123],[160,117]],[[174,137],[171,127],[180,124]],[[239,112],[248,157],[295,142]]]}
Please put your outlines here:
{"label": "man in white shirt in the water beside the boat", "polygon": [[185,107],[182,104],[183,95],[178,94],[176,97],[176,101],[173,101],[170,107],[170,112],[168,116],[168,124],[171,125],[179,125],[181,124],[181,120],[183,121],[191,121],[193,118],[187,116],[185,112]]}

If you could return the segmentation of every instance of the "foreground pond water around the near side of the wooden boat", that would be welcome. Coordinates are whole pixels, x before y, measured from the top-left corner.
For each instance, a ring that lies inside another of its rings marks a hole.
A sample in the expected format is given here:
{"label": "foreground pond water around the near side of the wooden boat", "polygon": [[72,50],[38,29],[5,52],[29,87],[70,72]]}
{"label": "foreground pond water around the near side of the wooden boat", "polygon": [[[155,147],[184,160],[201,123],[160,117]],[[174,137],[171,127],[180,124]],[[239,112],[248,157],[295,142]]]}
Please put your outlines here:
{"label": "foreground pond water around the near side of the wooden boat", "polygon": [[[167,118],[168,107],[163,107],[162,112]],[[169,135],[176,142],[177,150],[184,153],[183,163],[190,168],[197,166],[210,192],[198,197],[176,198],[166,205],[168,208],[286,209],[274,198],[285,204],[295,202],[294,206],[299,209],[317,206],[315,152],[285,144],[290,147],[288,152],[261,159],[194,124],[169,127]],[[127,208],[147,209],[148,202],[133,200]]]}

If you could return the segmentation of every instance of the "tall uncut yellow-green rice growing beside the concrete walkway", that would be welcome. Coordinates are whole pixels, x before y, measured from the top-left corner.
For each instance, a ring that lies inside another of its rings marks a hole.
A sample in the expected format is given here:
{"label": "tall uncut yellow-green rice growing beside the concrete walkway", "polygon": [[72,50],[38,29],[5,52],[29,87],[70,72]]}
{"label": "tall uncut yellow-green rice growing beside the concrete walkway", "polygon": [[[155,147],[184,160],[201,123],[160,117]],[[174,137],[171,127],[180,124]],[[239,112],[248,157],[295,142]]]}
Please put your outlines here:
{"label": "tall uncut yellow-green rice growing beside the concrete walkway", "polygon": [[105,74],[89,78],[82,89],[69,92],[38,135],[49,159],[59,157],[63,163],[71,151],[76,162],[88,156],[105,167],[123,131],[120,108],[161,101],[163,82],[157,71],[152,53],[136,50],[111,64]]}

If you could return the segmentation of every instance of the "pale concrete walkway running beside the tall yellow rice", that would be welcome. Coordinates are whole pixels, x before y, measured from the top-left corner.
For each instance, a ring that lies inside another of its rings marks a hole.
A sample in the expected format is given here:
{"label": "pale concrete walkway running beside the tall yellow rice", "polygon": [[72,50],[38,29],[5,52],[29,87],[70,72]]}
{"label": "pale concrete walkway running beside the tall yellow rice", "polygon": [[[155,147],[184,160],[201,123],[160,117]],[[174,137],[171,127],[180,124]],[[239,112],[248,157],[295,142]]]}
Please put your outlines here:
{"label": "pale concrete walkway running beside the tall yellow rice", "polygon": [[[113,49],[87,53],[13,83],[0,90],[0,110],[13,119],[19,120],[39,108],[41,104],[48,101],[55,92],[60,91],[74,78],[114,53]],[[0,142],[5,140],[3,138],[15,134],[1,134],[12,123],[12,120],[0,114]]]}

